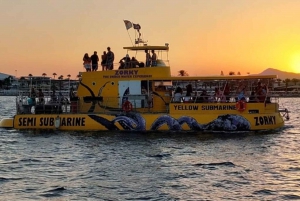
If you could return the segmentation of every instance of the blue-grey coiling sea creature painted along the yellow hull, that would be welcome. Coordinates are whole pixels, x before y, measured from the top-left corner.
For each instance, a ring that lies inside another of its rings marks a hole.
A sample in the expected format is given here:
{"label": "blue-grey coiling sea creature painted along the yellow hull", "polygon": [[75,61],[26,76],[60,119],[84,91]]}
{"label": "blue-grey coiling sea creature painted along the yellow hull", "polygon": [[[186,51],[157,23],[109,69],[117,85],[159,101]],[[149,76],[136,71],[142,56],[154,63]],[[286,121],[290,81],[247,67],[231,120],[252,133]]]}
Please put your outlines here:
{"label": "blue-grey coiling sea creature painted along the yellow hull", "polygon": [[[146,131],[146,121],[139,113],[131,112],[124,115],[116,115],[111,121],[97,115],[88,116],[108,130],[119,130],[115,125],[119,123],[124,130]],[[169,115],[162,115],[152,123],[150,130],[159,130],[166,125],[170,131],[182,131],[184,124],[194,131],[248,131],[251,127],[249,121],[240,115],[220,115],[217,119],[207,124],[199,124],[195,118],[189,116],[175,119]]]}

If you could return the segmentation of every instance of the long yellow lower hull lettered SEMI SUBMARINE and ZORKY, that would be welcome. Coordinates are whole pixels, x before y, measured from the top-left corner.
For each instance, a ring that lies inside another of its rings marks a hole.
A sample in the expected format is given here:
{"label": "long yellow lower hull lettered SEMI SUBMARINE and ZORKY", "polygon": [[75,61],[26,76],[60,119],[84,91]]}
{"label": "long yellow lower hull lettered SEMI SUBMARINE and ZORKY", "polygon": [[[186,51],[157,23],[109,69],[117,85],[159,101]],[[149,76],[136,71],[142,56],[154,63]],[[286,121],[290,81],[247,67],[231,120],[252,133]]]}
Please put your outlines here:
{"label": "long yellow lower hull lettered SEMI SUBMARINE and ZORKY", "polygon": [[280,128],[280,113],[268,114],[20,114],[2,119],[0,127],[15,129],[128,131],[250,131]]}

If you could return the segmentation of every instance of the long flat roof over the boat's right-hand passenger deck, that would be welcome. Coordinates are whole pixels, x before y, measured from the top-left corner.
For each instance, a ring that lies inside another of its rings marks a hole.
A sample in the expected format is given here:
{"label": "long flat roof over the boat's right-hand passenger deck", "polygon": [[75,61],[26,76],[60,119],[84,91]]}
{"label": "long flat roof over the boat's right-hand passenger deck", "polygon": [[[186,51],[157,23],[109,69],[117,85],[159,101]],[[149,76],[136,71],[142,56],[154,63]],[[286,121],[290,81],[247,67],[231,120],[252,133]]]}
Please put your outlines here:
{"label": "long flat roof over the boat's right-hand passenger deck", "polygon": [[252,79],[274,79],[274,78],[277,78],[277,75],[172,76],[172,77],[153,78],[152,80],[182,80],[182,81],[183,80],[187,80],[187,81],[197,81],[197,80],[252,80]]}

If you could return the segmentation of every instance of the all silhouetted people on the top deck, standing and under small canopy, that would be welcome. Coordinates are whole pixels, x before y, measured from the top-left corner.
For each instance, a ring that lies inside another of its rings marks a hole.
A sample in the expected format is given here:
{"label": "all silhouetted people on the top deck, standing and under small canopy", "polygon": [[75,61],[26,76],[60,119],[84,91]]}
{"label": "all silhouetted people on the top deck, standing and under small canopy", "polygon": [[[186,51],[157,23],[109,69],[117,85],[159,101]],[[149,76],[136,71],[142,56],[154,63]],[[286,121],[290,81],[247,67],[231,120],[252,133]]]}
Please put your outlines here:
{"label": "all silhouetted people on the top deck, standing and under small canopy", "polygon": [[[145,53],[146,53],[146,63],[139,62],[135,57],[132,57],[130,59],[129,55],[126,54],[126,56],[119,61],[120,63],[119,69],[157,66],[157,55],[155,53],[155,50],[151,50],[152,55],[150,55],[148,50],[145,50]],[[97,55],[97,51],[94,51],[94,54],[92,56],[89,56],[88,53],[85,53],[82,60],[86,72],[98,70],[99,57]],[[110,47],[107,47],[107,52],[103,51],[103,54],[101,55],[102,71],[113,70],[114,60],[115,60],[114,53],[111,51]]]}

